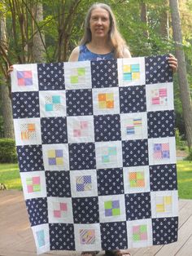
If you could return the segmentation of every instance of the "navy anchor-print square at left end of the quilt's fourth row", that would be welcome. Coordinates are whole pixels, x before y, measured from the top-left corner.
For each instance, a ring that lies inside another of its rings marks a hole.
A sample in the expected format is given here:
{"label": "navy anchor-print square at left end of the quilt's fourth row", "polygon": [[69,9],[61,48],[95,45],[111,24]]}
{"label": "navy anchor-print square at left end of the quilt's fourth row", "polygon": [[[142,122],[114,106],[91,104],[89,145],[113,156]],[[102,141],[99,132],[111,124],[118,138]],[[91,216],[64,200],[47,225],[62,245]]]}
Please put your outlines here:
{"label": "navy anchor-print square at left end of the quilt's fourth row", "polygon": [[20,171],[44,170],[41,145],[17,146]]}

